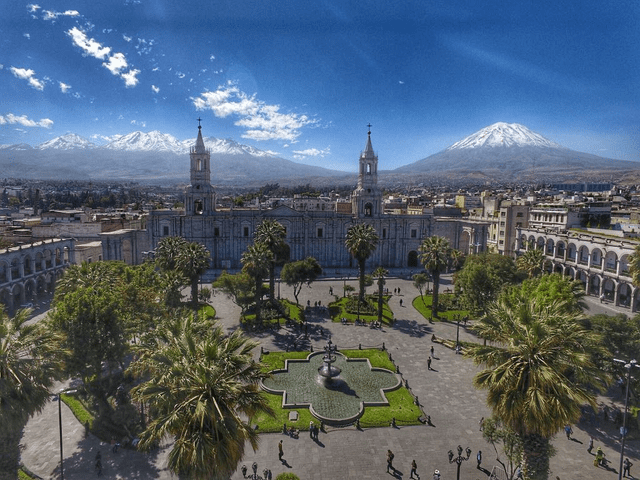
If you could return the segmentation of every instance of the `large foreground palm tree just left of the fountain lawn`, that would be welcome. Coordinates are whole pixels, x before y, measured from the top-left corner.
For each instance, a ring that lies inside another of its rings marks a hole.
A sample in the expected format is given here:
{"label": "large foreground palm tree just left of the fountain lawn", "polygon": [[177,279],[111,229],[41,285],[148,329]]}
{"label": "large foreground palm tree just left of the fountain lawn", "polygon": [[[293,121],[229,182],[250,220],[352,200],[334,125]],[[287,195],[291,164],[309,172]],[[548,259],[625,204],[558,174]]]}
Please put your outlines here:
{"label": "large foreground palm tree just left of the fountain lawn", "polygon": [[230,478],[246,442],[258,446],[250,419],[272,413],[258,386],[266,374],[253,360],[256,346],[238,330],[226,335],[184,318],[151,333],[131,366],[146,380],[133,397],[152,412],[140,448],[175,438],[169,470],[194,480]]}

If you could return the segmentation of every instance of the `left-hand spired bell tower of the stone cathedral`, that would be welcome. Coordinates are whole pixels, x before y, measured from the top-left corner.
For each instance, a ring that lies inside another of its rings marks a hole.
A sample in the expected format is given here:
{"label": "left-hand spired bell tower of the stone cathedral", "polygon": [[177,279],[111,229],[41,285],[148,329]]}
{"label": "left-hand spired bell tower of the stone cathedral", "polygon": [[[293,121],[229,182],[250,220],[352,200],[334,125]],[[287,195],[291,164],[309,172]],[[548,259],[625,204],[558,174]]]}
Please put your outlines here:
{"label": "left-hand spired bell tower of the stone cathedral", "polygon": [[207,215],[215,210],[215,194],[211,186],[211,151],[204,147],[202,126],[198,119],[198,138],[191,147],[191,185],[185,194],[187,215]]}

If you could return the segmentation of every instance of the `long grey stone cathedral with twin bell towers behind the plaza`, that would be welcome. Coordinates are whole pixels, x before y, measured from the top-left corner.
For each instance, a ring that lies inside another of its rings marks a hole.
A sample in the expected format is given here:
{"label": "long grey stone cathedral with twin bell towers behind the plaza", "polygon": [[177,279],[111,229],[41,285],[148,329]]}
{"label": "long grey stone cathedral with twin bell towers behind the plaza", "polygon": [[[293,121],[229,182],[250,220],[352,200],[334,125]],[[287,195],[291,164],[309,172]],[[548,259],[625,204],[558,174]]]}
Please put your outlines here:
{"label": "long grey stone cathedral with twin bell towers behind the plaza", "polygon": [[[351,203],[336,203],[325,211],[299,211],[287,206],[273,209],[217,208],[211,185],[211,152],[198,126],[191,147],[191,184],[183,211],[155,210],[147,224],[150,246],[155,249],[164,237],[181,236],[203,244],[211,253],[211,269],[205,278],[221,270],[242,268],[242,253],[253,243],[253,234],[264,219],[274,219],[286,230],[290,261],[315,257],[326,272],[356,267],[345,247],[347,230],[357,223],[372,225],[380,241],[367,261],[367,268],[419,268],[418,247],[423,239],[438,235],[463,253],[485,250],[488,224],[463,217],[434,215],[425,209],[419,215],[383,212],[382,190],[378,186],[378,156],[371,143],[371,128],[358,160],[358,184]],[[268,161],[268,160],[265,160]],[[213,166],[215,168],[215,165]]]}

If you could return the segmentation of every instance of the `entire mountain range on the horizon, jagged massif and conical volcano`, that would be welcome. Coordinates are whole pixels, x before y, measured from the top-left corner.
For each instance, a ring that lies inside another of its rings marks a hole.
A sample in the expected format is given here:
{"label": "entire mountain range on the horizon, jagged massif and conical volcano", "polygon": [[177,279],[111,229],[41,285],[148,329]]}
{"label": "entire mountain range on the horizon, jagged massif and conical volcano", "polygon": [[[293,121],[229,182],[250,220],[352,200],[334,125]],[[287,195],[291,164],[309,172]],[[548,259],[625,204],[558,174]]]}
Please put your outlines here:
{"label": "entire mountain range on the horizon, jagged massif and conical volcano", "polygon": [[[212,155],[212,183],[263,185],[355,183],[356,175],[299,164],[231,139],[204,138]],[[57,180],[188,181],[189,148],[195,138],[178,140],[152,131],[116,136],[103,145],[69,133],[40,145],[0,145],[2,177]],[[33,165],[46,165],[46,170]],[[637,178],[640,163],[576,152],[519,124],[495,123],[449,148],[391,171],[381,184],[584,181]],[[615,177],[615,178],[613,178]]]}

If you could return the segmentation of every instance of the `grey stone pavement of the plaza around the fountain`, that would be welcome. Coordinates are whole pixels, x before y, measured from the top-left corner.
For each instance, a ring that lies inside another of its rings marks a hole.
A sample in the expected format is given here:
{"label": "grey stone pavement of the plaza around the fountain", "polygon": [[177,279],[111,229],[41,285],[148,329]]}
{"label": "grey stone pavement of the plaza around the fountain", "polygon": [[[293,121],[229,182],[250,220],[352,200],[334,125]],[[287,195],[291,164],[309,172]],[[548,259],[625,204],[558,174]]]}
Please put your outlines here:
{"label": "grey stone pavement of the plaza around the fountain", "polygon": [[[317,301],[327,305],[332,300],[329,287],[333,288],[335,294],[341,294],[345,281],[357,287],[355,272],[351,272],[349,280],[326,279],[315,282],[310,289],[303,288],[300,303],[306,304],[309,300],[312,305]],[[445,277],[441,289],[450,288],[450,281],[450,277]],[[436,359],[432,364],[434,370],[426,369],[426,359],[432,345],[431,334],[455,339],[456,325],[441,322],[429,324],[422,318],[411,306],[411,299],[418,293],[410,281],[390,278],[387,280],[387,287],[391,292],[394,288],[401,288],[401,294],[393,296],[390,302],[397,319],[393,328],[373,330],[331,323],[316,317],[311,323],[328,329],[338,347],[357,348],[358,344],[363,347],[378,346],[384,342],[403,378],[407,379],[426,413],[431,416],[433,426],[364,431],[354,427],[329,428],[327,433],[320,433],[318,443],[304,433],[297,440],[282,434],[263,434],[260,436],[259,449],[254,453],[248,447],[245,460],[240,465],[244,463],[250,470],[251,464],[257,462],[259,473],[264,468],[269,468],[274,478],[280,472],[290,471],[303,480],[380,479],[390,476],[386,473],[386,452],[390,449],[395,454],[395,478],[409,478],[411,461],[415,459],[422,478],[430,479],[437,468],[442,474],[442,480],[446,480],[453,479],[456,475],[456,465],[449,464],[447,452],[455,451],[457,445],[462,445],[463,448],[470,447],[473,453],[469,461],[462,463],[460,477],[471,480],[488,478],[491,468],[497,462],[495,452],[482,439],[478,427],[478,421],[483,416],[489,416],[489,410],[485,404],[485,392],[476,390],[472,384],[477,367],[452,350],[435,344]],[[280,289],[282,297],[293,299],[288,287],[281,285]],[[374,287],[369,287],[368,290],[373,289]],[[403,299],[402,307],[400,299]],[[597,299],[596,302],[599,304]],[[232,330],[238,327],[239,309],[230,300],[217,294],[211,303],[225,328]],[[283,348],[295,333],[281,329],[276,334],[258,333],[251,336],[266,350],[277,350]],[[461,327],[460,338],[473,339],[473,336]],[[327,337],[314,332],[311,340],[316,349],[326,344]],[[612,392],[611,397],[601,397],[600,400],[611,407],[620,407],[620,393],[615,390]],[[92,436],[85,439],[82,427],[64,404],[62,407],[65,478],[85,479],[93,476],[93,459],[97,448],[102,452],[105,478],[171,478],[166,470],[166,448],[160,449],[154,456],[123,449],[113,454],[108,445],[100,445]],[[593,421],[574,425],[573,430],[574,440],[567,440],[561,433],[553,441],[557,453],[551,459],[550,478],[616,479],[614,469],[618,468],[620,445],[615,426],[610,422]],[[596,447],[602,446],[607,458],[611,460],[610,470],[593,466],[594,457],[586,452],[589,434],[594,436]],[[284,441],[285,460],[282,463],[278,460],[277,446],[281,439]],[[43,478],[58,478],[58,442],[57,403],[52,402],[25,429],[23,462]],[[483,452],[482,470],[476,468],[475,456],[478,450]],[[625,456],[629,456],[635,464],[632,472],[640,468],[640,441],[628,441]],[[232,478],[239,480],[242,474],[238,470]]]}

